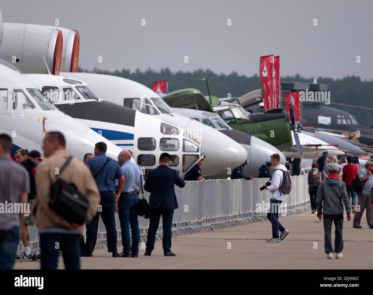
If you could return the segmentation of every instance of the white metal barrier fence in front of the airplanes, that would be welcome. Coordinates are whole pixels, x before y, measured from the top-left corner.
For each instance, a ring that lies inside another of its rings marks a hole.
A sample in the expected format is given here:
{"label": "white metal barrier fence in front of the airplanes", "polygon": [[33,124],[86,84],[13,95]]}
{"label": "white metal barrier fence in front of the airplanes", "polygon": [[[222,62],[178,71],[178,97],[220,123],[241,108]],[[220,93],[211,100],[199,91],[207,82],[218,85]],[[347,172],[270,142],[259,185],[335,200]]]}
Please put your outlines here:
{"label": "white metal barrier fence in front of the airplanes", "polygon": [[[269,203],[269,191],[260,191],[269,178],[253,180],[207,180],[186,181],[184,188],[175,186],[179,208],[173,215],[173,227],[202,225],[204,223],[224,221],[263,214],[264,206]],[[282,202],[286,209],[303,206],[309,202],[307,174],[292,176],[291,193],[285,195]],[[145,192],[149,200],[149,193]],[[115,213],[116,228],[120,236],[119,216]],[[139,216],[140,232],[147,232],[149,219]],[[162,229],[162,218],[159,223]],[[39,240],[36,226],[28,226],[30,244],[36,247]],[[84,227],[85,234],[85,227]],[[98,223],[98,240],[106,238],[106,229],[101,220]],[[21,241],[20,241],[21,247]]]}

